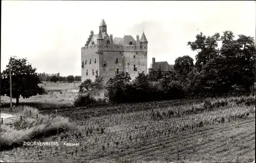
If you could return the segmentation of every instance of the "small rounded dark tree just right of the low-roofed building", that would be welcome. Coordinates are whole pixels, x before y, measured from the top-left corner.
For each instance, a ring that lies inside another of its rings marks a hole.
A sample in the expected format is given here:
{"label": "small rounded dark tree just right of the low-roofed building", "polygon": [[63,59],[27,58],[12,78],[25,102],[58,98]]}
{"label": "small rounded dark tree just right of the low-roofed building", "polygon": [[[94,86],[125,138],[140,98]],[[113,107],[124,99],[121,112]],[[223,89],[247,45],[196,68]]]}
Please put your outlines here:
{"label": "small rounded dark tree just right of the low-roofed building", "polygon": [[189,56],[178,57],[175,60],[174,70],[181,75],[187,75],[194,67],[193,59]]}

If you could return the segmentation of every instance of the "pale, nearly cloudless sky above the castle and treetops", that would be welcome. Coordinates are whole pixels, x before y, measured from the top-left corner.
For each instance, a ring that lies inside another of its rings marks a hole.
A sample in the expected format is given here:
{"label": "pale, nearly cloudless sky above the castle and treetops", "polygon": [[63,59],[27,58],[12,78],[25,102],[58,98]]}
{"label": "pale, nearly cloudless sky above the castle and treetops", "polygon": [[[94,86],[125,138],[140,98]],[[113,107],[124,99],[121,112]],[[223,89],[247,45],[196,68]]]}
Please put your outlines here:
{"label": "pale, nearly cloudless sky above the castle and treetops", "polygon": [[[115,37],[144,31],[147,64],[185,55],[197,34],[230,30],[255,38],[255,1],[2,1],[1,71],[9,58],[27,58],[37,72],[81,75],[81,47],[101,19]],[[194,61],[195,63],[195,61]]]}

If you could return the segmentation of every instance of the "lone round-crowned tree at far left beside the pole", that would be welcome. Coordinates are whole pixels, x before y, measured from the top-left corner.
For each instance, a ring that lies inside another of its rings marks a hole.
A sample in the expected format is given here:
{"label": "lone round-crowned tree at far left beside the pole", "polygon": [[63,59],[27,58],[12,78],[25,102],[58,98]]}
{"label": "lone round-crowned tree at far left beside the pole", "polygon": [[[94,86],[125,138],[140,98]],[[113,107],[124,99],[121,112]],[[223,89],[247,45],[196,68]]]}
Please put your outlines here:
{"label": "lone round-crowned tree at far left beside the pole", "polygon": [[10,70],[12,72],[12,97],[16,98],[19,105],[19,97],[29,98],[37,94],[43,94],[45,89],[39,87],[40,80],[36,75],[36,68],[27,63],[28,60],[11,57],[6,69],[1,73],[1,95],[10,97]]}

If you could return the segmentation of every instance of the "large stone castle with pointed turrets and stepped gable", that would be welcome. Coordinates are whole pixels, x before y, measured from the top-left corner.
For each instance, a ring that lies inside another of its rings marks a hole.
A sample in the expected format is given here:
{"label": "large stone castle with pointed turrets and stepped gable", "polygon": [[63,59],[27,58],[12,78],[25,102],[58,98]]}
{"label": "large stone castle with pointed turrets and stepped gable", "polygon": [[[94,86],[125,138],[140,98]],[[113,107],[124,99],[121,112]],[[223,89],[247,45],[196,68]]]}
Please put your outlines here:
{"label": "large stone castle with pointed turrets and stepped gable", "polygon": [[101,20],[99,33],[91,31],[81,48],[82,82],[87,78],[102,76],[104,82],[119,72],[127,72],[134,79],[139,72],[147,73],[147,39],[142,33],[136,40],[129,35],[123,38],[108,35],[106,23]]}

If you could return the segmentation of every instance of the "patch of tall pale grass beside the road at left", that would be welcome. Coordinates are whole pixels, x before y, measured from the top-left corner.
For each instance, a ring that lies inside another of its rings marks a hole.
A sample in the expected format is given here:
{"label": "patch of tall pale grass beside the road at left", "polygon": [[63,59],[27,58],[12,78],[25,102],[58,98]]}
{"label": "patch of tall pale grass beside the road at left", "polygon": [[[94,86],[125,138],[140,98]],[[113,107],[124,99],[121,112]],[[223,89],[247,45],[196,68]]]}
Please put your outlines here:
{"label": "patch of tall pale grass beside the road at left", "polygon": [[[20,106],[22,107],[22,106]],[[36,108],[30,106],[23,106],[22,108],[16,107],[15,110],[21,109],[22,121],[19,118],[4,121],[1,124],[1,138],[0,149],[8,150],[14,147],[23,145],[23,142],[33,141],[33,139],[48,137],[50,135],[65,132],[75,126],[69,122],[68,118],[61,116],[49,116],[39,114]],[[35,116],[30,117],[30,114],[38,114],[38,118]],[[13,111],[15,113],[15,111]],[[16,112],[16,116],[18,113]]]}

